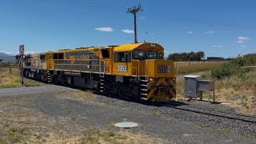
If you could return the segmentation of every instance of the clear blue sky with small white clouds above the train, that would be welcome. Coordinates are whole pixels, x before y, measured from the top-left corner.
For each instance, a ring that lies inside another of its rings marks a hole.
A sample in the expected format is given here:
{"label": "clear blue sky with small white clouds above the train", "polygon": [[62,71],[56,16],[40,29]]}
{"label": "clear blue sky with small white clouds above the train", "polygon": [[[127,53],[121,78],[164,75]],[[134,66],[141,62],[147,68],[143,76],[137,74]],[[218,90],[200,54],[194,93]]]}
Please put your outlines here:
{"label": "clear blue sky with small white clouds above the train", "polygon": [[174,52],[234,58],[256,52],[254,0],[1,0],[0,52],[17,54],[82,46],[157,42]]}

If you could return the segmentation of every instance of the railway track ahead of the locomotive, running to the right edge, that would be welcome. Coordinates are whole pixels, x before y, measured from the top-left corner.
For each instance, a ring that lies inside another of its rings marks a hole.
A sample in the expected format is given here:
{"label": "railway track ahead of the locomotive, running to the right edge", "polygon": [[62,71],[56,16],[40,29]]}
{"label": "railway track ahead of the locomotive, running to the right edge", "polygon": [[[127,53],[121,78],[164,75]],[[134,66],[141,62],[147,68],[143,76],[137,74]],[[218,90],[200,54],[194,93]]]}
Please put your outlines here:
{"label": "railway track ahead of the locomotive, running to the right edge", "polygon": [[181,102],[165,102],[165,103],[157,103],[157,105],[171,107],[177,110],[186,110],[186,111],[194,112],[198,114],[212,115],[220,118],[229,118],[229,119],[234,119],[234,120],[243,121],[243,122],[251,122],[253,124],[256,124],[255,116],[250,116],[245,114],[234,114],[234,113],[221,111],[221,110],[214,110],[214,109],[202,108],[197,106],[189,106]]}

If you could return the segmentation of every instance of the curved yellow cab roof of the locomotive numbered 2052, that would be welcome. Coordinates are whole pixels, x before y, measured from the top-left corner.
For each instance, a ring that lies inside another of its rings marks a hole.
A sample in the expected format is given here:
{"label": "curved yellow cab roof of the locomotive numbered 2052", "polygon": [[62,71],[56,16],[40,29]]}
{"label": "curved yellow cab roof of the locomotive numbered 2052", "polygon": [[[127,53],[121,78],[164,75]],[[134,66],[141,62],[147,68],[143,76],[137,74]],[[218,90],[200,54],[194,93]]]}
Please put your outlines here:
{"label": "curved yellow cab roof of the locomotive numbered 2052", "polygon": [[127,44],[127,45],[122,45],[122,46],[117,46],[114,48],[114,51],[132,51],[138,47],[154,47],[154,48],[162,48],[162,46],[156,44],[156,43],[133,43],[133,44]]}

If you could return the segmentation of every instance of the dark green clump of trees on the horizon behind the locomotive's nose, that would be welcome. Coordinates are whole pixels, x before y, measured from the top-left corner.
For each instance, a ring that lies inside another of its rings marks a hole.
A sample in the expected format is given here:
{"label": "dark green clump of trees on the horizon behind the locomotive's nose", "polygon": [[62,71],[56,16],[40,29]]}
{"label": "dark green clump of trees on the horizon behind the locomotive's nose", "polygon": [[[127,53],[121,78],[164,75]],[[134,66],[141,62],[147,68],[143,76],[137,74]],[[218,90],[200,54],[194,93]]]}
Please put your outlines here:
{"label": "dark green clump of trees on the horizon behind the locomotive's nose", "polygon": [[169,54],[167,59],[174,60],[174,61],[201,61],[202,58],[204,57],[205,57],[205,52],[203,51],[198,51],[196,53],[194,51],[191,51],[190,53]]}

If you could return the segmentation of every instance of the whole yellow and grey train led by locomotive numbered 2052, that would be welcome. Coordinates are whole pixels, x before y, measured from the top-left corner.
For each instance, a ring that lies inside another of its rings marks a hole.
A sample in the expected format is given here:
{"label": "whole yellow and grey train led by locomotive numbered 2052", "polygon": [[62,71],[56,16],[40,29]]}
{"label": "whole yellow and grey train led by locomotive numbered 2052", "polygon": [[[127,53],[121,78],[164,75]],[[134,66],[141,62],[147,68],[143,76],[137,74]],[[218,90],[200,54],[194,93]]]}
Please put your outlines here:
{"label": "whole yellow and grey train led by locomotive numbered 2052", "polygon": [[157,43],[81,47],[31,54],[24,75],[44,82],[79,86],[104,94],[166,102],[176,97],[174,62]]}

